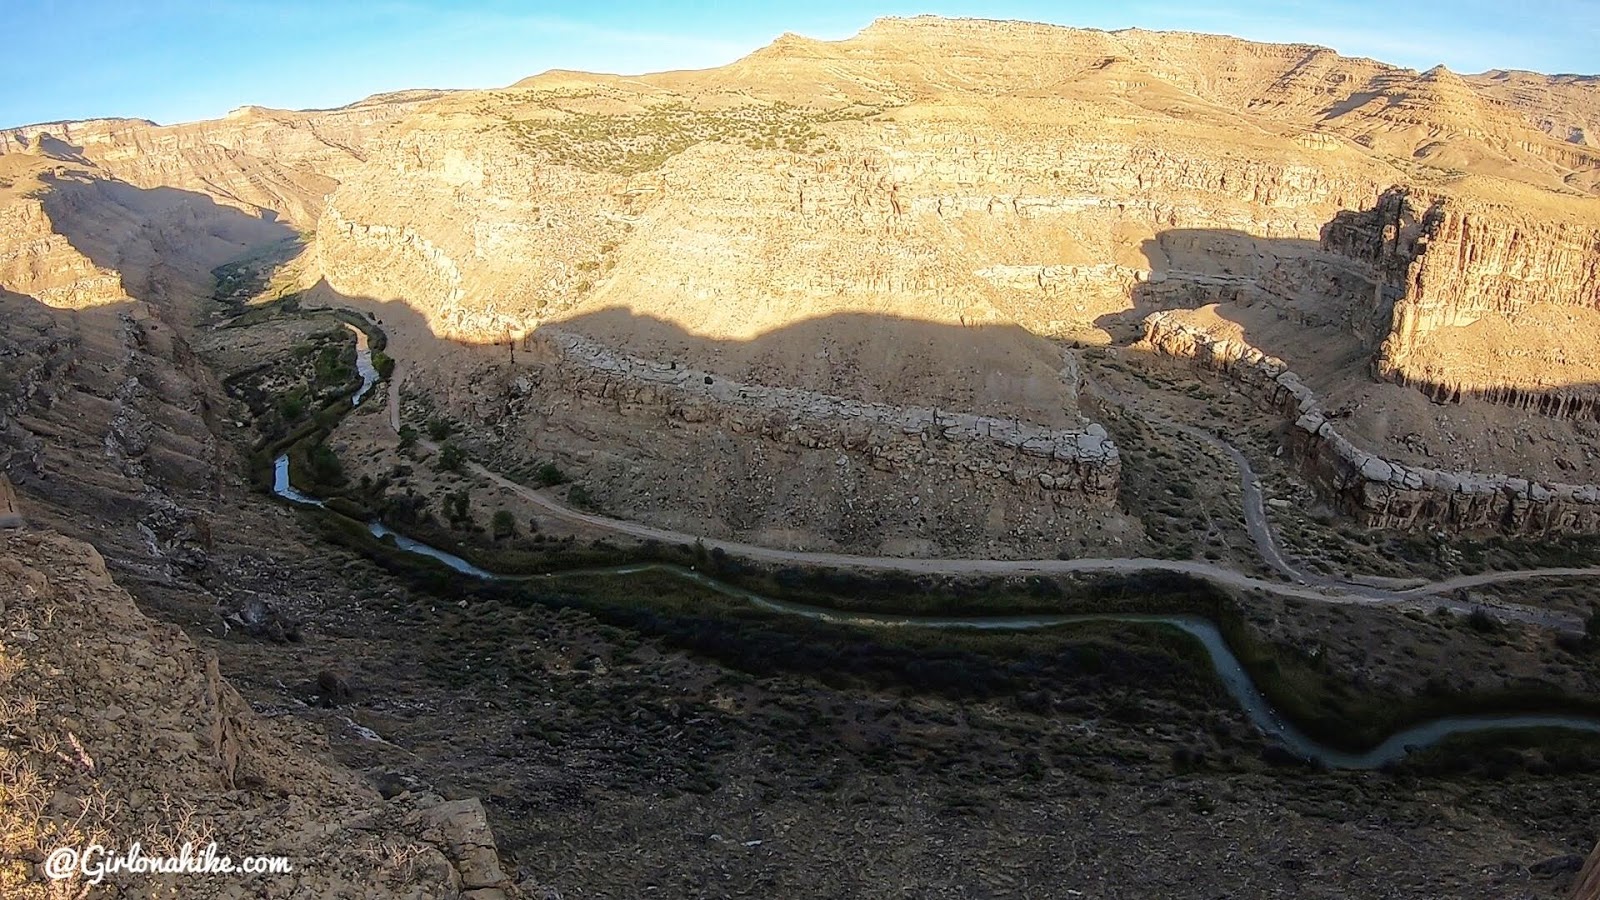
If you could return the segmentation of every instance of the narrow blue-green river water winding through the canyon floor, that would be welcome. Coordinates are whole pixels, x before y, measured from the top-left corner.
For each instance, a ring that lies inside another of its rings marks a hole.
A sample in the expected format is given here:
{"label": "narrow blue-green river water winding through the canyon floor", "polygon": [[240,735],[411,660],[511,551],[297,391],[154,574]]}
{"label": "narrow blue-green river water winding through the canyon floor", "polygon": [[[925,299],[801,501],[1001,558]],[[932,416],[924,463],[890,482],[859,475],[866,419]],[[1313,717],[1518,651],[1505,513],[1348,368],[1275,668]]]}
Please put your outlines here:
{"label": "narrow blue-green river water winding through the canyon floor", "polygon": [[[362,388],[355,394],[355,402],[360,404],[373,384],[378,381],[378,372],[371,364],[371,352],[366,344],[366,335],[354,325],[350,330],[357,331],[357,370],[362,375]],[[322,508],[322,500],[302,493],[290,482],[290,458],[288,453],[280,455],[274,460],[274,479],[272,490],[283,500],[304,506]],[[1190,615],[1141,615],[1141,613],[1090,613],[1090,615],[994,615],[994,617],[917,617],[917,615],[888,615],[888,613],[856,613],[856,612],[840,612],[824,607],[813,607],[806,604],[797,604],[790,601],[779,601],[774,597],[766,597],[754,591],[746,591],[736,588],[725,581],[718,581],[709,575],[696,572],[693,569],[685,569],[680,565],[667,564],[634,564],[634,565],[611,565],[603,569],[579,569],[570,572],[557,572],[549,575],[496,575],[486,569],[474,565],[466,559],[451,554],[448,551],[438,549],[435,546],[426,544],[414,538],[408,538],[398,532],[384,527],[381,522],[368,522],[366,530],[378,540],[389,538],[394,544],[406,552],[414,552],[434,559],[454,572],[472,578],[482,580],[498,580],[498,581],[536,581],[536,580],[557,580],[557,578],[574,578],[574,577],[602,577],[602,575],[637,575],[642,572],[667,572],[678,578],[685,578],[720,594],[738,597],[755,609],[762,609],[771,613],[792,615],[800,618],[810,618],[814,621],[827,621],[837,625],[850,625],[861,628],[942,628],[942,629],[976,629],[976,631],[1030,631],[1040,628],[1059,628],[1075,623],[1088,621],[1126,621],[1126,623],[1149,623],[1162,625],[1166,628],[1176,628],[1200,642],[1205,647],[1206,655],[1211,660],[1211,666],[1216,669],[1218,677],[1227,689],[1229,697],[1245,711],[1245,716],[1261,730],[1269,740],[1280,743],[1290,753],[1310,759],[1326,765],[1330,769],[1378,769],[1381,765],[1397,762],[1405,757],[1406,753],[1413,749],[1421,749],[1432,746],[1451,735],[1472,733],[1472,732],[1490,732],[1502,729],[1566,729],[1578,732],[1600,733],[1600,719],[1584,717],[1584,716],[1560,716],[1560,714],[1506,714],[1506,716],[1446,716],[1440,719],[1432,719],[1418,725],[1411,725],[1400,730],[1384,740],[1381,745],[1365,751],[1365,753],[1349,753],[1338,748],[1326,746],[1307,737],[1304,732],[1296,729],[1288,719],[1278,714],[1277,709],[1267,703],[1261,690],[1250,679],[1245,666],[1238,661],[1234,652],[1229,649],[1227,641],[1222,633],[1210,620]]]}

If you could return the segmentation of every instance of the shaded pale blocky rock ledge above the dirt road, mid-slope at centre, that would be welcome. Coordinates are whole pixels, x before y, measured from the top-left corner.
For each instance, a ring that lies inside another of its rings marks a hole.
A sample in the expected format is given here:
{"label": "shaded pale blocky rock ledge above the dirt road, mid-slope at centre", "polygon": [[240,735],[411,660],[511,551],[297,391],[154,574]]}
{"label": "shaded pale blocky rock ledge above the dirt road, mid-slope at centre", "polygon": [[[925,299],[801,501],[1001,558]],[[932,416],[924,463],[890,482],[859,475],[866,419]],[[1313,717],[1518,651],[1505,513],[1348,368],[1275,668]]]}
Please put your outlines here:
{"label": "shaded pale blocky rock ledge above the dirt road, mid-slope at centre", "polygon": [[1117,495],[1122,461],[1099,424],[1045,428],[934,407],[869,404],[648,362],[568,331],[541,330],[538,336],[557,360],[549,368],[554,386],[619,408],[658,408],[678,421],[712,423],[806,450],[864,453],[880,471],[938,466],[1037,484],[1061,503],[1088,498],[1110,504]]}

